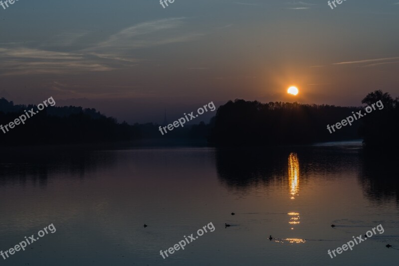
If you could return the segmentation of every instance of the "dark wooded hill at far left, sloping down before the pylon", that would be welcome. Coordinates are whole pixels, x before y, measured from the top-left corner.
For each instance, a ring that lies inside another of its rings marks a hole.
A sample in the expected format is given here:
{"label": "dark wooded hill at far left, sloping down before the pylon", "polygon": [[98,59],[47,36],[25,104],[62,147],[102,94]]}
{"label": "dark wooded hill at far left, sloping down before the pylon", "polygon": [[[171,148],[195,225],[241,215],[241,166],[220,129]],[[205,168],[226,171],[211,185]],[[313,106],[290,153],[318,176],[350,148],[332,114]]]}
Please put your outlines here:
{"label": "dark wooded hill at far left, sloping down before the pylon", "polygon": [[[24,110],[32,108],[37,110],[34,105],[14,105],[12,101],[1,98],[0,124],[4,126],[13,122],[25,114]],[[125,122],[118,124],[116,119],[106,117],[95,109],[74,106],[48,106],[24,123],[15,125],[6,133],[0,131],[0,144],[92,143],[126,141],[141,137],[135,126],[129,126]]]}

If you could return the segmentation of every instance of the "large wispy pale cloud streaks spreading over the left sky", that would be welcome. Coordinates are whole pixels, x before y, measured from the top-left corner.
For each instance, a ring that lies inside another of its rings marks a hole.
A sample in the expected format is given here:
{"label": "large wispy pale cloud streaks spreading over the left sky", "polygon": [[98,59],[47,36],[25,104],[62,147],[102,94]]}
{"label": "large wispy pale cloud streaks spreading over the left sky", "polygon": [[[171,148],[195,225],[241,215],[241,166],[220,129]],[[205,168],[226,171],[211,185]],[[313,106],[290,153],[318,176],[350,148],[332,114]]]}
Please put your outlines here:
{"label": "large wispy pale cloud streaks spreading over the left sky", "polygon": [[184,32],[184,17],[138,23],[124,28],[97,41],[86,48],[74,51],[52,51],[49,47],[65,43],[57,47],[69,47],[88,31],[61,33],[50,42],[36,45],[35,48],[8,44],[0,48],[0,70],[2,75],[28,74],[75,74],[94,71],[111,71],[132,67],[144,59],[134,58],[134,49],[149,48],[171,43],[187,42],[203,35]]}

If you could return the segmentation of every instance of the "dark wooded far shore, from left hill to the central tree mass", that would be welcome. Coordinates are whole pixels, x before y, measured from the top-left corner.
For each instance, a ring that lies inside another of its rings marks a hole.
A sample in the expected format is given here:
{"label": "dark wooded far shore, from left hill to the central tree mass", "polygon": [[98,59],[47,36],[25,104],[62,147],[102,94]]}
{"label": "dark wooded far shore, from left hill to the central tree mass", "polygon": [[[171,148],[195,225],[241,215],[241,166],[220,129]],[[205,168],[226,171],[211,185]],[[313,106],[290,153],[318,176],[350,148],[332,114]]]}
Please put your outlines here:
{"label": "dark wooded far shore, from left hill to the central tree mass", "polygon": [[[31,109],[38,110],[35,105],[14,105],[12,101],[1,98],[0,125],[8,125]],[[75,106],[47,106],[24,123],[15,125],[8,132],[4,130],[5,133],[0,130],[0,145],[97,143],[138,139],[156,139],[154,143],[168,145],[190,139],[206,143],[206,136],[210,132],[210,126],[200,122],[199,125],[187,125],[162,135],[157,124],[118,123],[116,119],[106,117],[95,109]]]}

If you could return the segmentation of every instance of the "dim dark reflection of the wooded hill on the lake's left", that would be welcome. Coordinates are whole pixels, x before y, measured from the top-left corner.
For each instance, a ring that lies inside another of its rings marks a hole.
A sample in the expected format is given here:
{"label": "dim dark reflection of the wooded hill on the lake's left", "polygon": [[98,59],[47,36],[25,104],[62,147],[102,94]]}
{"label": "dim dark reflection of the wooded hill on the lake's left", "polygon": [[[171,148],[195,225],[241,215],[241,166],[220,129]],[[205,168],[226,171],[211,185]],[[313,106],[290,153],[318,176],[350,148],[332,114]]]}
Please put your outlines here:
{"label": "dim dark reflection of the wooded hill on the lake's left", "polygon": [[40,186],[48,177],[67,174],[83,178],[87,172],[108,167],[115,162],[115,153],[73,147],[18,147],[0,154],[0,185],[31,180]]}

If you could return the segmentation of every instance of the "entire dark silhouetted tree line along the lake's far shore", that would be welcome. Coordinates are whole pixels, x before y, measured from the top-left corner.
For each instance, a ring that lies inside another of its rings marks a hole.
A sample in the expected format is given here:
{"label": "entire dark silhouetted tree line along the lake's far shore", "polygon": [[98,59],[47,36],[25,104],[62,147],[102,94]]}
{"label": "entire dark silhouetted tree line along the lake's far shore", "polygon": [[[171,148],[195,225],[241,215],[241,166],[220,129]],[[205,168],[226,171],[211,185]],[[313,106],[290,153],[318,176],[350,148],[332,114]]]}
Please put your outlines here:
{"label": "entire dark silhouetted tree line along the lake's far shore", "polygon": [[[320,141],[364,139],[368,148],[398,146],[399,99],[381,90],[369,93],[362,104],[378,101],[384,109],[375,110],[340,130],[330,133],[327,125],[341,122],[352,112],[364,107],[309,105],[299,103],[228,101],[217,109],[216,115],[205,124],[187,125],[165,135],[158,124],[118,123],[95,109],[82,107],[47,107],[25,125],[7,133],[0,131],[0,145],[115,142],[137,139],[197,139],[214,146],[256,146],[307,144]],[[6,125],[34,105],[14,105],[0,99],[0,124]]]}

